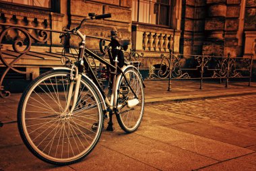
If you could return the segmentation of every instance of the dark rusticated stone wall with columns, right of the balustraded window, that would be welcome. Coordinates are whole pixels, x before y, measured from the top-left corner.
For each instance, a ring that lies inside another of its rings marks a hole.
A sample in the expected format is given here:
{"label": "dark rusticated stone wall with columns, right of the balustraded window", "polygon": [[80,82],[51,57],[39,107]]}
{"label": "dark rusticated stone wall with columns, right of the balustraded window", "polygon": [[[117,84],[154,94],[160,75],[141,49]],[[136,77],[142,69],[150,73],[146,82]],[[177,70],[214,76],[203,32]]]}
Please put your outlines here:
{"label": "dark rusticated stone wall with columns, right of the balustraded window", "polygon": [[254,0],[183,0],[181,53],[242,57],[256,39],[255,11]]}

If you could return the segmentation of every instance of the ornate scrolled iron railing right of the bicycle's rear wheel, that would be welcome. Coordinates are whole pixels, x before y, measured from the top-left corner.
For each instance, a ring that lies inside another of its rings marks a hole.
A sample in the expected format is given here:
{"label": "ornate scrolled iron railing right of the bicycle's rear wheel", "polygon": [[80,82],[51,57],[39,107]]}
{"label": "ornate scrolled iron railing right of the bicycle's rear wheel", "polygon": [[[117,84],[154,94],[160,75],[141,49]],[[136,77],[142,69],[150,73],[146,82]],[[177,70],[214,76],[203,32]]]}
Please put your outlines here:
{"label": "ornate scrolled iron railing right of the bicycle's rear wheel", "polygon": [[253,57],[215,57],[210,55],[160,55],[161,62],[151,65],[146,79],[168,79],[168,91],[174,79],[199,79],[203,89],[205,79],[226,79],[226,88],[232,78],[249,79],[251,85]]}

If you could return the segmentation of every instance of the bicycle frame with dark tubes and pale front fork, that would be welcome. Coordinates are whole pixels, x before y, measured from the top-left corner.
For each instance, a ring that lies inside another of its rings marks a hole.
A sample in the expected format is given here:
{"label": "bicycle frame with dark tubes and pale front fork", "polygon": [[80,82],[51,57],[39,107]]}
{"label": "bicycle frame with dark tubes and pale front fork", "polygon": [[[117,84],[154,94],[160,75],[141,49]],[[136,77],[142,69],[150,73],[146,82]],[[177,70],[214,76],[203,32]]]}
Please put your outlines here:
{"label": "bicycle frame with dark tubes and pale front fork", "polygon": [[[76,31],[77,35],[82,38],[82,42],[80,42],[79,44],[79,55],[78,55],[78,61],[75,65],[75,77],[73,78],[73,81],[71,81],[71,85],[69,87],[69,93],[68,93],[68,98],[67,98],[67,104],[70,104],[71,102],[71,98],[72,98],[72,90],[73,90],[73,84],[74,81],[76,81],[75,83],[75,91],[74,91],[74,96],[73,96],[73,104],[71,107],[71,110],[69,112],[69,114],[71,114],[75,108],[75,104],[77,102],[77,96],[79,94],[79,85],[80,85],[80,81],[81,81],[81,77],[82,77],[82,73],[84,72],[84,67],[86,67],[86,69],[88,70],[90,76],[92,77],[92,81],[96,84],[96,86],[98,87],[98,90],[100,90],[100,93],[102,94],[102,97],[104,98],[108,108],[110,108],[110,110],[115,110],[117,109],[117,90],[116,90],[116,79],[117,79],[117,71],[120,71],[120,73],[123,75],[123,77],[125,78],[125,81],[127,83],[127,85],[129,86],[129,88],[131,89],[131,92],[133,92],[135,98],[137,98],[137,94],[135,94],[134,90],[131,88],[129,81],[127,80],[127,78],[125,77],[125,74],[123,73],[122,69],[120,69],[117,66],[117,55],[114,59],[115,62],[115,66],[108,63],[108,61],[98,57],[98,55],[96,55],[95,53],[93,53],[91,50],[89,50],[88,48],[85,47],[86,45],[86,35],[83,35],[81,32],[79,32],[79,30]],[[121,48],[119,49],[121,50]],[[108,49],[109,51],[109,49]],[[112,92],[111,92],[111,96],[110,96],[110,101],[108,100],[104,90],[102,90],[102,87],[100,86],[100,83],[92,69],[92,67],[90,66],[90,63],[88,61],[88,59],[86,57],[84,57],[84,53],[87,53],[88,55],[90,55],[91,57],[93,57],[94,59],[100,61],[100,63],[108,66],[110,68],[111,71],[114,71],[114,77],[113,77],[113,87],[112,87]],[[111,53],[108,53],[110,55],[112,55]],[[113,58],[113,57],[111,57]],[[74,66],[74,65],[73,65]],[[73,67],[72,67],[73,68]],[[71,69],[71,73],[73,72],[73,69]],[[78,74],[77,74],[78,73]],[[73,75],[71,74],[71,78],[73,77]],[[69,105],[67,105],[69,106]],[[68,108],[66,108],[65,110],[68,110]]]}

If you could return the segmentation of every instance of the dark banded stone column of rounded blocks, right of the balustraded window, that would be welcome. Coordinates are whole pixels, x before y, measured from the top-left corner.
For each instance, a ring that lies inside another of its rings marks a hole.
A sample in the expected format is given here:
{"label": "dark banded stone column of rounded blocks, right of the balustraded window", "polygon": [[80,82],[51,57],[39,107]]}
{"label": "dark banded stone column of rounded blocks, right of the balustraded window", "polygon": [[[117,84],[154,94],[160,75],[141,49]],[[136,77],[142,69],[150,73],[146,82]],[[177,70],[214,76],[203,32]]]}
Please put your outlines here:
{"label": "dark banded stone column of rounded blocks, right of the balustraded window", "polygon": [[224,30],[226,22],[226,0],[207,0],[207,18],[205,18],[205,42],[203,53],[206,55],[224,55]]}

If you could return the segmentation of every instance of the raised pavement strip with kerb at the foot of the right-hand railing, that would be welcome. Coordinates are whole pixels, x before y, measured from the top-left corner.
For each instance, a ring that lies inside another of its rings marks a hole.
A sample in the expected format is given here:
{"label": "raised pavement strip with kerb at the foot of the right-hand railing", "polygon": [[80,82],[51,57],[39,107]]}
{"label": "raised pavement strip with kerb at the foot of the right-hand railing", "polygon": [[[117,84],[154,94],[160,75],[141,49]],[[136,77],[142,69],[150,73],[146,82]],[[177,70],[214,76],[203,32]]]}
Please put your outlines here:
{"label": "raised pavement strip with kerb at the foot of the right-hand railing", "polygon": [[226,96],[242,96],[256,94],[256,83],[230,83],[228,88],[224,84],[205,81],[203,90],[199,90],[199,81],[172,81],[172,90],[167,91],[168,81],[145,81],[146,104],[163,104],[170,102],[220,98]]}

